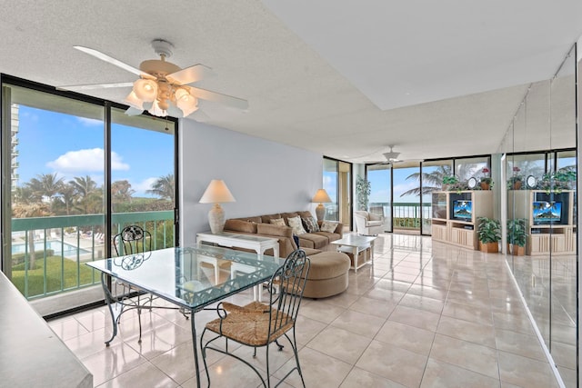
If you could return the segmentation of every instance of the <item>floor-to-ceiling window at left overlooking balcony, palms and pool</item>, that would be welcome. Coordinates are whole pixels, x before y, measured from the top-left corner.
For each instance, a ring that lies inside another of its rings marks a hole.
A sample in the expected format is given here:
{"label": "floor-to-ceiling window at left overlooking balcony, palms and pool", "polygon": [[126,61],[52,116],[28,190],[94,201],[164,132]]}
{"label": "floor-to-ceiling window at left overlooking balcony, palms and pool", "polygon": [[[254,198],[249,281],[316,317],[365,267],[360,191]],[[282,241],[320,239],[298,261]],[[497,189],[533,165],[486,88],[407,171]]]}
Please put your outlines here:
{"label": "floor-to-ceiling window at left overlooking balcony, palms and pool", "polygon": [[175,244],[176,121],[2,81],[2,270],[46,314],[102,299],[85,263],[111,255],[118,225]]}

